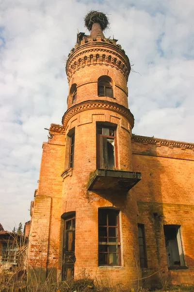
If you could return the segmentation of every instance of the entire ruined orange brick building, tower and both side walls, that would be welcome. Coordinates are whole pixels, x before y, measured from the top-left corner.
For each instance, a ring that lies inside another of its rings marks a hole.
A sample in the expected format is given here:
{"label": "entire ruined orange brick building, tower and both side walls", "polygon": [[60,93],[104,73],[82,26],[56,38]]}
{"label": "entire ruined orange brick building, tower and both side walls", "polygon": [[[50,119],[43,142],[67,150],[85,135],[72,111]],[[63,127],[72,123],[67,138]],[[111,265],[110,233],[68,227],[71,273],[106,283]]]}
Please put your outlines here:
{"label": "entire ruined orange brick building, tower and both side walls", "polygon": [[29,281],[194,283],[194,144],[132,135],[129,58],[100,21],[77,35],[67,110],[43,143]]}

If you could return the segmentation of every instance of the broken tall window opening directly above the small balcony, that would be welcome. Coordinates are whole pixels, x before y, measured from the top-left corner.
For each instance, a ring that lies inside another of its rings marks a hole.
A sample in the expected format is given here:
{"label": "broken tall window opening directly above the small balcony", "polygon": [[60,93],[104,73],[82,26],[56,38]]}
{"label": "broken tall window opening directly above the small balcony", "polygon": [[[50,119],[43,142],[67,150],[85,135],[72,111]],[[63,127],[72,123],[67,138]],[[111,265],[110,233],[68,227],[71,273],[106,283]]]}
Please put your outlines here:
{"label": "broken tall window opening directly above the small balcony", "polygon": [[[102,134],[99,134],[99,129],[102,129]],[[109,130],[109,134],[105,135],[103,134],[103,129]],[[110,135],[111,132],[114,131],[114,135]],[[110,140],[113,141],[113,143],[110,143],[113,145],[113,165],[112,167],[109,167],[111,164],[111,158],[109,157],[108,153],[108,144]],[[117,141],[116,141],[116,128],[106,125],[97,125],[97,169],[113,169],[114,167],[117,167]]]}

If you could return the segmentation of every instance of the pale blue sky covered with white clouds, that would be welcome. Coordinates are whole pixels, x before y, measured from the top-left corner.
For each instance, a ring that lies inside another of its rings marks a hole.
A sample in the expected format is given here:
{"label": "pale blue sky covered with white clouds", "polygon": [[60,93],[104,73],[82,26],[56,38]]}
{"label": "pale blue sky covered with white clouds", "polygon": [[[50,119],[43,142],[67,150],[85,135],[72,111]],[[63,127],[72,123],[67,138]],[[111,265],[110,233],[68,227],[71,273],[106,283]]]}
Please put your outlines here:
{"label": "pale blue sky covered with white clouds", "polygon": [[[193,0],[0,0],[0,223],[30,219],[42,143],[61,124],[65,59],[83,17],[109,15],[129,56],[133,133],[194,143]],[[137,72],[137,73],[136,73]]]}

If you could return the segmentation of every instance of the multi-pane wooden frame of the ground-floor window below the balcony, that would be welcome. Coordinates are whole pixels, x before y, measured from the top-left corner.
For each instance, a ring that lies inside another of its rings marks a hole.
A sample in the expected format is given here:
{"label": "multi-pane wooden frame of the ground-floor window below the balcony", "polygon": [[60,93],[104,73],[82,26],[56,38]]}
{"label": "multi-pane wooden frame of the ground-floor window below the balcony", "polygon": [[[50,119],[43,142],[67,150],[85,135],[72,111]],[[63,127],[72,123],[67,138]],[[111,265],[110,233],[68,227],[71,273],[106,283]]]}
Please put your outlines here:
{"label": "multi-pane wooden frame of the ground-floor window below the balcony", "polygon": [[[100,225],[99,224],[99,216],[100,216],[100,212],[106,211],[106,225]],[[114,213],[115,217],[116,217],[116,225],[109,225],[108,220],[109,220],[109,214],[110,213]],[[99,241],[100,237],[99,235],[99,230],[100,228],[107,228],[107,236],[104,237],[107,239],[107,241]],[[111,237],[109,236],[109,228],[116,228],[116,232],[115,234],[117,235],[116,237]],[[111,238],[115,238],[115,242],[113,241],[109,241]],[[117,241],[116,241],[117,240]],[[100,246],[102,245],[107,245],[107,252],[102,252],[100,251]],[[118,251],[117,252],[113,252],[113,251],[109,251],[109,246],[117,246]],[[105,257],[105,263],[102,264],[99,262],[99,258],[101,254],[106,254],[107,256]],[[110,264],[109,263],[109,259],[110,259],[110,254],[117,254],[117,263],[116,264]],[[98,209],[98,266],[121,266],[121,242],[120,242],[120,223],[119,223],[119,211],[115,210],[115,209],[106,209],[106,208],[99,208]]]}

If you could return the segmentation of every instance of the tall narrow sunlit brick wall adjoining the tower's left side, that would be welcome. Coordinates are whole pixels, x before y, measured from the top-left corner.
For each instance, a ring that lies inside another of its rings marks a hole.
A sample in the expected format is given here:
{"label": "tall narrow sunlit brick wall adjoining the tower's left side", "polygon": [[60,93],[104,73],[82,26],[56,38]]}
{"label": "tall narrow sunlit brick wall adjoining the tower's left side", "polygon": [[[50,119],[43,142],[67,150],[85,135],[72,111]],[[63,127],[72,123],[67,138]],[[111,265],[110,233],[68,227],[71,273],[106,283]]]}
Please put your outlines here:
{"label": "tall narrow sunlit brick wall adjoining the tower's left side", "polygon": [[[43,143],[38,191],[35,192],[32,212],[29,237],[29,267],[32,273],[29,282],[33,279],[33,283],[39,275],[44,281],[49,268],[58,266],[65,135],[63,132],[56,132],[56,126],[53,125],[50,129],[52,139]],[[41,273],[34,270],[36,267],[41,267]],[[36,277],[34,273],[37,274]]]}

